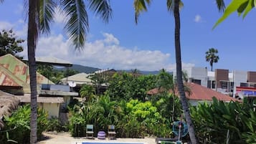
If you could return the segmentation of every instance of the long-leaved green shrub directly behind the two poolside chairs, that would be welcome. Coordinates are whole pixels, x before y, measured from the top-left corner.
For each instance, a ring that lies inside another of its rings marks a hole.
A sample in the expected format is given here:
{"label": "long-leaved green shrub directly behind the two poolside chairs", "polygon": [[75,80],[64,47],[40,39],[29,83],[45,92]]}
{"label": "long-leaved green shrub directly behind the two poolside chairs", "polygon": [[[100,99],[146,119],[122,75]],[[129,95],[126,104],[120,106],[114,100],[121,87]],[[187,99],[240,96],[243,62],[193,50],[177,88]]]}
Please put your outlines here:
{"label": "long-leaved green shrub directly behind the two poolside chairs", "polygon": [[[72,136],[85,136],[87,124],[93,124],[94,130],[108,130],[108,125],[116,124],[118,117],[116,114],[117,105],[115,101],[110,101],[108,96],[97,97],[92,102],[84,102],[75,105],[70,109],[69,129]],[[97,133],[95,133],[97,135]]]}

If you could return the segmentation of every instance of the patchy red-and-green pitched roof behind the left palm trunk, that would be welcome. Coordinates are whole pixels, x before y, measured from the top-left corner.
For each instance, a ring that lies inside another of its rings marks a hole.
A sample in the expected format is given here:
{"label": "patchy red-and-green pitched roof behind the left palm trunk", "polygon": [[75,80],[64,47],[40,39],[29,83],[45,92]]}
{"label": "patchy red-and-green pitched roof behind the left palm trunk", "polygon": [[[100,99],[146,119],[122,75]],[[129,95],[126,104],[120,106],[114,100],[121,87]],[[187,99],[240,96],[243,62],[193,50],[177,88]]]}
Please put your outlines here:
{"label": "patchy red-and-green pitched roof behind the left palm trunk", "polygon": [[[11,54],[0,57],[0,88],[14,94],[30,93],[29,67]],[[37,72],[37,84],[54,84]]]}

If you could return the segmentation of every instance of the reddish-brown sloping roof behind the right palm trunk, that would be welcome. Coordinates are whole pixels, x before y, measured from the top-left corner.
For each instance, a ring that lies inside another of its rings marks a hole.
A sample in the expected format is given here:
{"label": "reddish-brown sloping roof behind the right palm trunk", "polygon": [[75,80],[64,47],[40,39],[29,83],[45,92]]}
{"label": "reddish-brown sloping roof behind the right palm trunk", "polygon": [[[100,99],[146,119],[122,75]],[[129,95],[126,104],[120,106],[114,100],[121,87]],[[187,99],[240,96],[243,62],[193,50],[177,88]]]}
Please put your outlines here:
{"label": "reddish-brown sloping roof behind the right palm trunk", "polygon": [[[233,97],[229,97],[228,95],[224,95],[221,92],[217,92],[214,90],[211,90],[207,87],[204,87],[202,85],[195,84],[193,82],[189,82],[188,84],[189,89],[191,90],[190,95],[186,92],[186,98],[189,100],[212,100],[212,97],[216,97],[217,100],[222,100],[225,102],[229,101],[239,101]],[[161,91],[161,90],[160,90]],[[148,95],[154,95],[157,94],[159,90],[157,88],[149,90],[147,92]],[[171,91],[169,91],[171,92]],[[175,92],[178,93],[178,92]]]}

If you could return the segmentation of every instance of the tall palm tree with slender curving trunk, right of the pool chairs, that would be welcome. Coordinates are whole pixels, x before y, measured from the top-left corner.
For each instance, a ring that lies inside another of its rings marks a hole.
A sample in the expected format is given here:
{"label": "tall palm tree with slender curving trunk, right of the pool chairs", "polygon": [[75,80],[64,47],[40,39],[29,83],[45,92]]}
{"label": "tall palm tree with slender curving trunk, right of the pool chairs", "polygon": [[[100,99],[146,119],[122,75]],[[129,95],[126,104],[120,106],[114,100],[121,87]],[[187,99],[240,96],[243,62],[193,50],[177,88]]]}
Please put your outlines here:
{"label": "tall palm tree with slender curving trunk, right of the pool chairs", "polygon": [[[224,1],[216,0],[219,11],[224,10]],[[147,6],[151,4],[151,0],[134,0],[133,6],[135,8],[135,20],[136,24],[138,23],[138,16],[142,11],[147,11]],[[189,138],[192,144],[196,144],[196,136],[194,133],[194,125],[191,120],[189,105],[186,100],[184,85],[182,82],[182,71],[181,71],[181,44],[180,44],[180,16],[179,9],[183,6],[183,3],[180,0],[167,0],[167,9],[168,11],[174,12],[174,21],[175,21],[175,52],[176,52],[176,75],[177,75],[177,84],[179,95],[181,98],[181,105],[184,110],[184,115],[186,123],[189,128]]]}

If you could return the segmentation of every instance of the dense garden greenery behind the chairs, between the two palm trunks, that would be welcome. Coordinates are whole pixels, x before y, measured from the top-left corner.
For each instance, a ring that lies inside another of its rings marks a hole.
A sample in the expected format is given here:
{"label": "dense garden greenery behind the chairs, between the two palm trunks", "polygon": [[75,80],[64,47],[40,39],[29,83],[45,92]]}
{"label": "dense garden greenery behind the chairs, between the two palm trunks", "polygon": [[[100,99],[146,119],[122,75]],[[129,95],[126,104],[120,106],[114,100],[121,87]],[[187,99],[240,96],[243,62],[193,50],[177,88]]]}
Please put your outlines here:
{"label": "dense garden greenery behind the chairs, between the two palm trunks", "polygon": [[93,87],[84,85],[80,95],[90,99],[70,107],[72,136],[85,136],[87,124],[93,124],[95,132],[107,131],[108,125],[113,124],[117,137],[173,137],[171,123],[181,115],[179,98],[166,91],[152,96],[146,94],[154,87],[174,85],[172,75],[165,71],[161,75],[115,74],[108,82],[105,95],[93,95]]}

